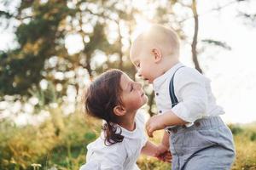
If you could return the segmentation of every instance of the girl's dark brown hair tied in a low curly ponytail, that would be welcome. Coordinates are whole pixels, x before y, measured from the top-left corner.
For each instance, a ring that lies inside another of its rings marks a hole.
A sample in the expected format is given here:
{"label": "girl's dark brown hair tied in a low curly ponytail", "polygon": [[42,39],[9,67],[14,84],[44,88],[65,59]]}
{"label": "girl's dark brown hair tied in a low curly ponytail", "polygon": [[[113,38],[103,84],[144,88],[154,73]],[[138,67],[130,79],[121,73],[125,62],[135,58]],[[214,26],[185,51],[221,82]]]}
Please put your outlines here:
{"label": "girl's dark brown hair tied in a low curly ponytail", "polygon": [[116,105],[122,105],[120,94],[120,79],[123,72],[117,69],[112,69],[102,73],[95,81],[90,84],[85,94],[85,111],[90,116],[100,118],[106,121],[102,126],[105,134],[105,144],[111,145],[122,142],[124,136],[121,135],[115,124],[117,117],[113,113],[113,108]]}

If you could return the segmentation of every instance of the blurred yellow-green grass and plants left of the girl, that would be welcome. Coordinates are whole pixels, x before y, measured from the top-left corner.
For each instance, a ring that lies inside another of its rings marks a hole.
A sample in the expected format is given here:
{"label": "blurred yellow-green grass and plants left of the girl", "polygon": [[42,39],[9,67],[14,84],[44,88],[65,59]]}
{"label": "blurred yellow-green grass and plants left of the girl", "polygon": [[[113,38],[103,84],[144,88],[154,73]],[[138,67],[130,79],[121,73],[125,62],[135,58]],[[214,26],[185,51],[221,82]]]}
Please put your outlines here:
{"label": "blurred yellow-green grass and plants left of the girl", "polygon": [[49,111],[50,119],[38,127],[1,122],[0,169],[32,169],[33,163],[46,169],[79,168],[85,145],[96,139],[100,128],[95,131],[79,113],[63,116],[58,108]]}

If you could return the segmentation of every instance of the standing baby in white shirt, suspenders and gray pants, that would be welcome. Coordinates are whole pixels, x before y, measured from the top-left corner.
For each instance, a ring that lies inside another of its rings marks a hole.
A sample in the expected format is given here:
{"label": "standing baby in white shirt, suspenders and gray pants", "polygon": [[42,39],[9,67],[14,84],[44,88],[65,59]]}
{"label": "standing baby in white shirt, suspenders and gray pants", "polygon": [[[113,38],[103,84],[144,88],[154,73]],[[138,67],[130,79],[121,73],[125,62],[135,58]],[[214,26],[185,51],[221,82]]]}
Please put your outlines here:
{"label": "standing baby in white shirt, suspenders and gray pants", "polygon": [[172,170],[230,169],[233,137],[219,117],[224,111],[216,105],[210,81],[178,58],[177,34],[164,26],[151,26],[131,44],[131,62],[153,83],[160,113],[148,120],[148,136],[166,129],[160,145],[172,152]]}

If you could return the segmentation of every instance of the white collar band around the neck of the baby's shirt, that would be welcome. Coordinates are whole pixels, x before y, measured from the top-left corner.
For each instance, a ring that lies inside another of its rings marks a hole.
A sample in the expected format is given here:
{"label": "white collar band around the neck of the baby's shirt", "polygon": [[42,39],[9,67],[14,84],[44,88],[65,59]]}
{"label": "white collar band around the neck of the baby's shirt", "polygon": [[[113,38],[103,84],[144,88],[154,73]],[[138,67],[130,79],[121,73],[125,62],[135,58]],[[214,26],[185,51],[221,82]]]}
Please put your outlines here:
{"label": "white collar band around the neck of the baby's shirt", "polygon": [[158,89],[160,88],[160,85],[166,81],[166,79],[172,77],[174,71],[177,70],[178,67],[182,66],[183,64],[178,62],[176,65],[173,65],[171,69],[169,69],[168,71],[166,71],[163,75],[161,75],[160,77],[157,77],[156,79],[154,79],[153,81],[153,87],[154,89]]}

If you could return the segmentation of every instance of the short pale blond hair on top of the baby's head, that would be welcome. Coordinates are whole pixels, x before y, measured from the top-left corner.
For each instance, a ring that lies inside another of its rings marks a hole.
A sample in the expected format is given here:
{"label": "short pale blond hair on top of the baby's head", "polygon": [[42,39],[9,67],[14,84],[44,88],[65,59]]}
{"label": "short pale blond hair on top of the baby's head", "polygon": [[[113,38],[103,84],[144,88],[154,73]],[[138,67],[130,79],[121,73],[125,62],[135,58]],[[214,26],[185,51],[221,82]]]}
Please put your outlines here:
{"label": "short pale blond hair on top of the baby's head", "polygon": [[179,38],[172,28],[152,25],[131,44],[131,56],[143,48],[159,48],[163,56],[179,56]]}

